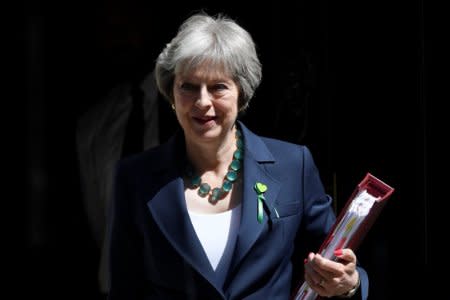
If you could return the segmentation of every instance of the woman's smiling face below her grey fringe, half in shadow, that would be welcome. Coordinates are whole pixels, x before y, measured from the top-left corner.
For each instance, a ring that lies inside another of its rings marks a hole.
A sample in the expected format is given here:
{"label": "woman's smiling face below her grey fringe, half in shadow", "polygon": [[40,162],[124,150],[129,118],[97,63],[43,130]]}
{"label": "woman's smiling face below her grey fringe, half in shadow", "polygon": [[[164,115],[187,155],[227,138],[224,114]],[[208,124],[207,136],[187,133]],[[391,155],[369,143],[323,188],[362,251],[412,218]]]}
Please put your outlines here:
{"label": "woman's smiling face below her grey fringe, half in shadow", "polygon": [[178,122],[186,138],[197,142],[225,139],[238,115],[237,84],[225,72],[206,70],[176,75],[173,85]]}

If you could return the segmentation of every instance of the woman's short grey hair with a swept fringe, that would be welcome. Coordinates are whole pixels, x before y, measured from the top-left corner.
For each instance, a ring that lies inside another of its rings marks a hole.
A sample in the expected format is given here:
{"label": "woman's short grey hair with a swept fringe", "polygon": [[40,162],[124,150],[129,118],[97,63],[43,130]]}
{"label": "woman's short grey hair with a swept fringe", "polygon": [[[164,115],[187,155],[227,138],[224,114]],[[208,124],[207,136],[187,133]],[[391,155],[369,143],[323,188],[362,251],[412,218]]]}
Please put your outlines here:
{"label": "woman's short grey hair with a swept fringe", "polygon": [[239,111],[245,110],[261,82],[261,63],[250,34],[224,15],[199,13],[180,26],[156,61],[156,84],[161,94],[173,103],[175,75],[205,62],[212,68],[223,68],[233,78],[240,90]]}

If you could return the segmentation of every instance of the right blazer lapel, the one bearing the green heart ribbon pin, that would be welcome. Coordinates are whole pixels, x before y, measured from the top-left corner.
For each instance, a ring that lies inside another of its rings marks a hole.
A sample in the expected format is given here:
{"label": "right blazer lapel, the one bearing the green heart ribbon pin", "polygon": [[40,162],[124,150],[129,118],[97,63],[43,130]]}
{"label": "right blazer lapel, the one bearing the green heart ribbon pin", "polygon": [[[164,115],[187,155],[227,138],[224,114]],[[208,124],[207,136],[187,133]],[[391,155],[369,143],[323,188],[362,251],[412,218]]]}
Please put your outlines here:
{"label": "right blazer lapel, the one bearing the green heart ribbon pin", "polygon": [[[273,203],[278,196],[280,183],[270,177],[264,163],[273,163],[274,158],[264,142],[240,124],[244,136],[244,176],[242,195],[242,217],[233,255],[231,273],[249,252],[262,231],[268,226],[270,214],[273,213]],[[257,220],[258,201],[254,186],[257,182],[267,186],[264,193],[264,217],[261,223]]]}

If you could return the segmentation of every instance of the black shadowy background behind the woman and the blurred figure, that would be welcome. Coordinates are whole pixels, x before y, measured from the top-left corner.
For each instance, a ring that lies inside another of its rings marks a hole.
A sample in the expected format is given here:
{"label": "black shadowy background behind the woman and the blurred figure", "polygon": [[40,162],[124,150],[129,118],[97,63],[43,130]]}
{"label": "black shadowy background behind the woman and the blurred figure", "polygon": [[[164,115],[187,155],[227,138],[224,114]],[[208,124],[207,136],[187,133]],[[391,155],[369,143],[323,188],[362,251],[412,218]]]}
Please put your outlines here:
{"label": "black shadowy background behind the woman and the blurred figure", "polygon": [[11,8],[10,104],[20,117],[10,141],[19,145],[13,154],[25,157],[11,173],[20,211],[12,244],[24,246],[13,250],[23,254],[11,264],[16,291],[95,299],[99,254],[80,200],[76,120],[116,84],[149,72],[182,20],[206,8],[236,19],[258,45],[263,82],[243,116],[251,129],[308,145],[337,208],[367,172],[396,188],[358,250],[371,299],[422,293],[407,284],[428,274],[430,256],[431,103],[421,1],[278,1],[257,9],[151,2]]}

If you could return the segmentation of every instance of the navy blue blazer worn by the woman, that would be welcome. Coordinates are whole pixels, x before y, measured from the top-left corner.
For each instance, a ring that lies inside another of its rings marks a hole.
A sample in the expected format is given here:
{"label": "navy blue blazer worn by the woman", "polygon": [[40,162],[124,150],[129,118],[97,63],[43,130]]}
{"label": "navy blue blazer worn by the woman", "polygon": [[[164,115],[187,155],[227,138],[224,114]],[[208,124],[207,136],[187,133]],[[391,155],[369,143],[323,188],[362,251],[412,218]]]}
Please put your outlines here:
{"label": "navy blue blazer worn by the woman", "polygon": [[[259,137],[239,125],[245,143],[241,223],[225,278],[212,269],[187,213],[186,155],[178,134],[118,164],[110,300],[289,299],[293,270],[302,274],[303,259],[317,251],[335,220],[331,199],[305,146]],[[256,182],[268,187],[262,223]],[[367,274],[358,270],[361,292],[354,298],[365,299]]]}

